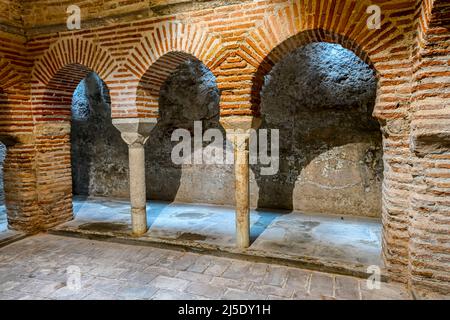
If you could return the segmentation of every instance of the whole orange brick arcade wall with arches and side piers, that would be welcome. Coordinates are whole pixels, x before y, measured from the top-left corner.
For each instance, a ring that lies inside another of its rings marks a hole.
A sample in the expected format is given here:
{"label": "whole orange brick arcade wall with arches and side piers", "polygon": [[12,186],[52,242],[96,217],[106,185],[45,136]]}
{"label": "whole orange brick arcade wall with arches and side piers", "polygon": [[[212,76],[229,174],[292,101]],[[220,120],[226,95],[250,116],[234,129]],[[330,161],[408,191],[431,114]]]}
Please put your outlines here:
{"label": "whole orange brick arcade wall with arches and side piers", "polygon": [[[99,8],[116,14],[114,3]],[[58,33],[51,25],[64,24],[60,9],[50,17],[28,5],[25,27],[40,28],[27,29],[27,41],[0,33],[1,133],[22,139],[5,163],[10,224],[34,230],[70,219],[69,97],[87,72],[109,87],[113,117],[156,117],[160,85],[194,56],[217,78],[222,117],[258,116],[263,76],[277,61],[302,44],[340,43],[378,77],[386,268],[396,280],[448,293],[448,1],[211,3]],[[371,4],[381,7],[381,30],[367,28]]]}

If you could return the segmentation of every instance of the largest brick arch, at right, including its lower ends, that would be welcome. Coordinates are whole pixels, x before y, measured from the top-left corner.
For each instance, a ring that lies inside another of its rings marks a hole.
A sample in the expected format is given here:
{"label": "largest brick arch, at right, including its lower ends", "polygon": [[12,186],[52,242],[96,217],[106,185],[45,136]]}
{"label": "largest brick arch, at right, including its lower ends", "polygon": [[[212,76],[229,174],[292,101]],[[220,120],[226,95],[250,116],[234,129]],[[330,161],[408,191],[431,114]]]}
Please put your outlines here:
{"label": "largest brick arch, at right, including its lower ends", "polygon": [[[275,12],[266,14],[265,19],[255,28],[250,30],[245,39],[239,45],[239,55],[247,62],[249,68],[254,68],[253,79],[245,80],[232,85],[227,77],[219,79],[224,82],[233,99],[222,101],[222,115],[259,114],[259,86],[261,76],[270,71],[271,67],[281,57],[291,52],[299,45],[310,42],[325,41],[339,43],[343,47],[352,50],[362,60],[368,62],[375,70],[378,70],[379,85],[390,82],[392,86],[398,82],[392,81],[392,76],[383,79],[383,73],[391,72],[392,67],[384,67],[389,62],[390,56],[409,58],[409,51],[401,44],[406,39],[406,31],[398,28],[395,20],[386,18],[391,13],[401,8],[389,5],[388,2],[380,3],[382,12],[381,30],[370,30],[367,27],[367,8],[372,1],[361,0],[318,0],[299,1],[293,0],[287,5],[280,5]],[[378,68],[382,65],[381,68]],[[404,64],[405,65],[405,64]],[[405,68],[403,66],[403,68]],[[220,69],[220,67],[219,67]],[[403,72],[403,70],[402,70]],[[238,74],[244,75],[244,72]],[[250,70],[245,75],[250,74]],[[401,81],[408,82],[406,76]],[[249,84],[251,82],[251,85]],[[248,86],[250,85],[251,88]],[[254,86],[256,87],[254,88]],[[388,113],[397,107],[392,101],[392,92],[395,89],[379,90],[377,98],[376,115],[379,118],[386,117]],[[251,103],[242,103],[251,95]],[[238,94],[234,94],[238,92]],[[246,98],[247,97],[247,98]],[[405,97],[408,100],[409,97]],[[234,100],[234,101],[231,101]],[[231,101],[231,102],[230,102]],[[226,109],[226,110],[225,110]]]}

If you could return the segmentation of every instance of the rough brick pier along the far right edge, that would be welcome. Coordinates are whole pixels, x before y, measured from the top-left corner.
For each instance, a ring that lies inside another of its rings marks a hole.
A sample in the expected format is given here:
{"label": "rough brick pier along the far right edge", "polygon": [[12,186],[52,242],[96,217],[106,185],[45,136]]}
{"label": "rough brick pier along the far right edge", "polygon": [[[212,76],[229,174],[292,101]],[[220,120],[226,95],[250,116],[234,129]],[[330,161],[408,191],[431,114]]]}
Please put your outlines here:
{"label": "rough brick pier along the far right edge", "polygon": [[411,110],[414,188],[409,269],[418,289],[450,292],[450,3],[418,11]]}

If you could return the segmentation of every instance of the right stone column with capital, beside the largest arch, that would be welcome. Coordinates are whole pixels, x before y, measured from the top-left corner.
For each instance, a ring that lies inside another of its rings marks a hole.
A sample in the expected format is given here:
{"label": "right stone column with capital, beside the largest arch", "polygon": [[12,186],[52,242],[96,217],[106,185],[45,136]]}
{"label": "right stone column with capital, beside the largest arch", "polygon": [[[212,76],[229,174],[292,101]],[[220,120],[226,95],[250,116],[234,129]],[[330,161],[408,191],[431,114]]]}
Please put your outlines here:
{"label": "right stone column with capital, beside the largest arch", "polygon": [[251,116],[238,116],[223,118],[220,122],[234,147],[236,246],[245,249],[250,246],[249,141],[251,129],[258,128],[261,121]]}

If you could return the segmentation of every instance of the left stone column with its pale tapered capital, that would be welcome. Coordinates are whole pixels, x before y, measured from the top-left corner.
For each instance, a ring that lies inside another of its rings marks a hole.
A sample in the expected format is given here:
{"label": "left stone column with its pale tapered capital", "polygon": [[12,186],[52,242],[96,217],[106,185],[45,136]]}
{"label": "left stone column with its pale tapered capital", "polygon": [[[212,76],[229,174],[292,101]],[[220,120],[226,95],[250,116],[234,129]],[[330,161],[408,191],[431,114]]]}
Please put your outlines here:
{"label": "left stone column with its pale tapered capital", "polygon": [[113,119],[113,125],[128,144],[131,223],[133,234],[140,236],[148,230],[144,145],[156,125],[156,119]]}

